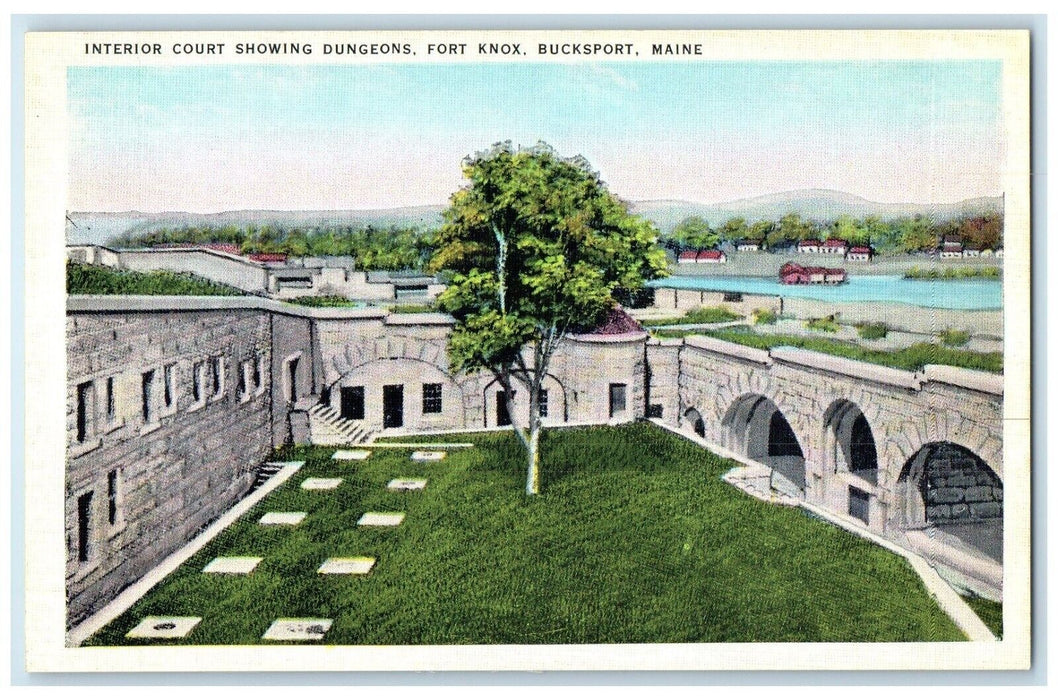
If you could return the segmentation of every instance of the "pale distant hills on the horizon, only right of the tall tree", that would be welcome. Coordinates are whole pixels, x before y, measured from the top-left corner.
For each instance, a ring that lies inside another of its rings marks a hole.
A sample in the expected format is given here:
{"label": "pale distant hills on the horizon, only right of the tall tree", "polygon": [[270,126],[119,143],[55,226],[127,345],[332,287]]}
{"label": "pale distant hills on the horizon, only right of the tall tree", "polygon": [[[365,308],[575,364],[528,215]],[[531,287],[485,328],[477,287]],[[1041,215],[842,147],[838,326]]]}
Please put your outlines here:
{"label": "pale distant hills on the horizon, only right of the tall tree", "polygon": [[778,220],[791,211],[814,221],[833,221],[842,214],[857,219],[877,216],[886,220],[923,214],[931,216],[934,220],[943,220],[999,211],[1002,207],[1001,197],[979,197],[949,204],[893,204],[872,202],[832,189],[798,189],[716,204],[678,200],[633,202],[633,210],[653,221],[662,232],[672,231],[676,224],[690,216],[701,217],[715,226],[732,217],[742,217],[748,223],[752,223],[761,220]]}

